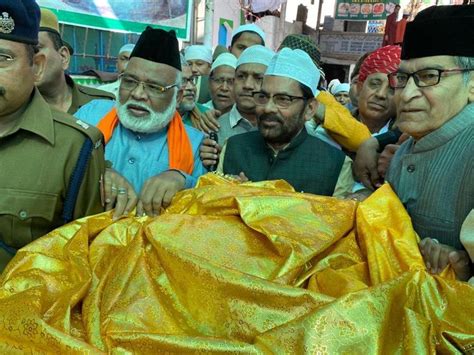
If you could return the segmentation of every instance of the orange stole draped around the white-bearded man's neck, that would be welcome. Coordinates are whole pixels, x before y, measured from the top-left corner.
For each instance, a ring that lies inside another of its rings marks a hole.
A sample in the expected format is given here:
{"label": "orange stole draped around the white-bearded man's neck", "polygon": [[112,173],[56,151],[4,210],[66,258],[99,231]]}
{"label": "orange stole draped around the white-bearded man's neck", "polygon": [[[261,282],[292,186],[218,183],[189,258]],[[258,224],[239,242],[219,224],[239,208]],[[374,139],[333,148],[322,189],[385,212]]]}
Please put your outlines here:
{"label": "orange stole draped around the white-bearded man's neck", "polygon": [[[104,135],[105,144],[112,138],[115,127],[119,122],[115,107],[102,118],[97,128]],[[168,154],[170,169],[177,169],[191,174],[194,169],[194,157],[183,120],[176,111],[168,126]]]}

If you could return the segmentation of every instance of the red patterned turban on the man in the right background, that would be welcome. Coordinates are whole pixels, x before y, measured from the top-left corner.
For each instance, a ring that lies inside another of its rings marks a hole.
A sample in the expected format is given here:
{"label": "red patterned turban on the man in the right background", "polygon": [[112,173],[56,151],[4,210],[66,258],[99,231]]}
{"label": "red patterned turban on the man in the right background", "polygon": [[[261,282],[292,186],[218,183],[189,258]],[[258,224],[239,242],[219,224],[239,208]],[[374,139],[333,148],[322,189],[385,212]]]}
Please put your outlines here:
{"label": "red patterned turban on the man in the right background", "polygon": [[379,48],[364,60],[359,71],[359,82],[363,83],[373,73],[393,73],[400,65],[400,46],[385,46]]}

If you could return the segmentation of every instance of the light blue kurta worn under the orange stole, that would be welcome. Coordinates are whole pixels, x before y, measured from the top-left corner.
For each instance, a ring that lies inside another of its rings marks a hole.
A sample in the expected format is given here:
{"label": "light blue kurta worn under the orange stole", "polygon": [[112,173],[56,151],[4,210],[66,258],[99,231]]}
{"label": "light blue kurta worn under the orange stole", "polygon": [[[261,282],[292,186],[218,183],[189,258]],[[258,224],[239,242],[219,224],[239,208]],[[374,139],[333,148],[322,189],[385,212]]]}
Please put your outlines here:
{"label": "light blue kurta worn under the orange stole", "polygon": [[[94,100],[83,106],[75,116],[90,125],[97,126],[114,105],[113,101]],[[193,149],[194,169],[191,175],[182,173],[186,177],[185,188],[191,188],[196,184],[198,177],[206,173],[199,158],[199,146],[204,134],[187,125],[185,129]],[[167,129],[142,134],[132,132],[119,124],[105,147],[105,158],[112,162],[113,168],[132,184],[137,193],[140,193],[145,181],[170,169]]]}

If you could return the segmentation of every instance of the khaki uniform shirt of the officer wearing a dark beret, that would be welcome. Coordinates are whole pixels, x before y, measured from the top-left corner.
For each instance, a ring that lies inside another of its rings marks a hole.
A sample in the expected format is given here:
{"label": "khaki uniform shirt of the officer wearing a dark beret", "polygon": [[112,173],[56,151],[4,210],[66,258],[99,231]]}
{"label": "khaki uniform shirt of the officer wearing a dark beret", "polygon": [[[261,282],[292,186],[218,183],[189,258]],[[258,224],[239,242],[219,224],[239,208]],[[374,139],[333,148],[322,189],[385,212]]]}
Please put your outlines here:
{"label": "khaki uniform shirt of the officer wearing a dark beret", "polygon": [[[75,219],[103,211],[99,186],[105,170],[102,135],[95,127],[51,109],[35,89],[16,127],[0,137],[3,244],[21,248],[64,223],[66,192],[86,137],[92,139],[94,149],[76,201]],[[0,270],[10,258],[0,248]]]}

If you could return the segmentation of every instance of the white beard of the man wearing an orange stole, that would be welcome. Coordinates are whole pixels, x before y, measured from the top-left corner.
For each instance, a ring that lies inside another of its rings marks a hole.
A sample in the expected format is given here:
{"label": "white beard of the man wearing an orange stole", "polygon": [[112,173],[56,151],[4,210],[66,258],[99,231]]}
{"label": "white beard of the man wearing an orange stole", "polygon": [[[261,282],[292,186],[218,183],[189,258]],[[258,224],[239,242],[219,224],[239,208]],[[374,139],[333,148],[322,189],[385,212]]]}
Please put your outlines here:
{"label": "white beard of the man wearing an orange stole", "polygon": [[[151,107],[143,102],[132,99],[128,100],[123,105],[117,100],[116,107],[119,121],[125,128],[137,133],[155,133],[161,131],[163,128],[168,126],[174,117],[176,111],[176,97],[177,95],[175,93],[170,104],[163,112],[155,112]],[[147,116],[135,117],[128,112],[127,107],[129,104],[143,107],[150,113]]]}

